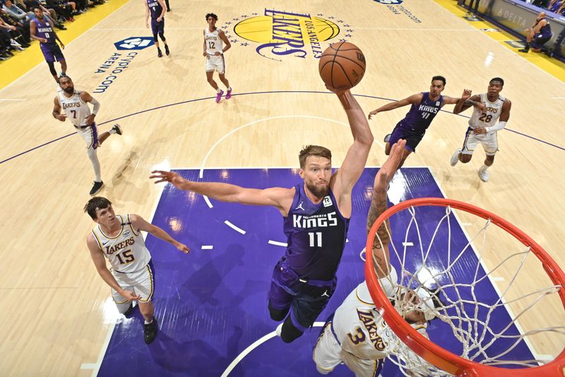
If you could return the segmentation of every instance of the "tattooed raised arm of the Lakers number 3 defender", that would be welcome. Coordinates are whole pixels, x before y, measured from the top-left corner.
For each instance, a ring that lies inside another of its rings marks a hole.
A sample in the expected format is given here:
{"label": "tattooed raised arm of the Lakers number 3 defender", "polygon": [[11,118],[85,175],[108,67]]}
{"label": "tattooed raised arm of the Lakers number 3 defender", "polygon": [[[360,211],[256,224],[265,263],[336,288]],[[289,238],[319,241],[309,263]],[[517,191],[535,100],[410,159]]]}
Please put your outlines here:
{"label": "tattooed raised arm of the Lakers number 3 defender", "polygon": [[[376,173],[373,185],[373,199],[371,200],[371,207],[367,215],[367,233],[371,230],[376,219],[386,211],[386,190],[398,169],[400,161],[402,161],[405,145],[406,141],[403,139],[394,144],[390,155],[379,169],[379,173]],[[377,229],[373,240],[373,268],[375,269],[376,277],[379,279],[391,273],[391,257],[388,252],[388,243],[390,242],[390,224],[386,220]]]}

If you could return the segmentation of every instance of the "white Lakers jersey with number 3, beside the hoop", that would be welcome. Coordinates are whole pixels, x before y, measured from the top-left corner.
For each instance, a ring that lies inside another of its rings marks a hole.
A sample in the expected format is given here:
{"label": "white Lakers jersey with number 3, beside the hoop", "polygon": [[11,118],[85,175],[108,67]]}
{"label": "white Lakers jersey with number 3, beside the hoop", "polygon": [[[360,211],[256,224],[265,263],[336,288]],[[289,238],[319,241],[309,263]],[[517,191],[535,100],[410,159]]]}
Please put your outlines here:
{"label": "white Lakers jersey with number 3, beside the hoop", "polygon": [[[388,296],[394,293],[387,291],[386,288],[384,290]],[[388,344],[393,337],[396,339],[396,334],[376,310],[367,282],[359,284],[345,298],[335,311],[332,325],[341,348],[360,359],[384,359],[394,352],[389,349]],[[412,325],[412,327],[425,336],[427,323]]]}

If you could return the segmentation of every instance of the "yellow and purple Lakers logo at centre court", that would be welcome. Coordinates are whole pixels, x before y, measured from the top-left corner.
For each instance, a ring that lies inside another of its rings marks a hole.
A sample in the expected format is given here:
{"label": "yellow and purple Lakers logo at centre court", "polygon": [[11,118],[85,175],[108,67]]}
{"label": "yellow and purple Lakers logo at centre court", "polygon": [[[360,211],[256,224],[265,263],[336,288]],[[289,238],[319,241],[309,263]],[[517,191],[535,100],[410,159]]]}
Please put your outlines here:
{"label": "yellow and purple Lakers logo at centre court", "polygon": [[[234,35],[229,34],[230,28]],[[222,26],[222,30],[230,42],[251,45],[261,57],[278,62],[291,58],[319,59],[328,43],[345,42],[354,31],[345,21],[322,13],[314,15],[267,8],[262,15],[251,13],[251,16],[233,18]],[[338,39],[340,33],[342,39]]]}

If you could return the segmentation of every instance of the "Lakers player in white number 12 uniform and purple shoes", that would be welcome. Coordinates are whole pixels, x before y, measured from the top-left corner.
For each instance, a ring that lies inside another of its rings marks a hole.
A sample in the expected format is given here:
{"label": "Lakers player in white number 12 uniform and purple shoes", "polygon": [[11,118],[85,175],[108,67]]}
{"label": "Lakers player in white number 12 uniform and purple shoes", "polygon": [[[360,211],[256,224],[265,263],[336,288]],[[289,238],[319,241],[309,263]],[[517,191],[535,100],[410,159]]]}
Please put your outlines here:
{"label": "Lakers player in white number 12 uniform and purple shoes", "polygon": [[220,81],[222,81],[226,87],[227,92],[225,94],[225,99],[229,100],[232,98],[232,87],[230,86],[230,81],[227,81],[225,78],[224,52],[230,50],[232,45],[230,44],[230,40],[228,40],[225,36],[225,33],[216,28],[216,21],[218,21],[218,16],[214,13],[208,13],[206,15],[208,28],[204,29],[203,56],[206,57],[206,79],[210,86],[216,90],[216,102],[219,103],[220,100],[222,100],[224,91],[218,88],[218,84],[214,81],[214,71],[218,71]]}

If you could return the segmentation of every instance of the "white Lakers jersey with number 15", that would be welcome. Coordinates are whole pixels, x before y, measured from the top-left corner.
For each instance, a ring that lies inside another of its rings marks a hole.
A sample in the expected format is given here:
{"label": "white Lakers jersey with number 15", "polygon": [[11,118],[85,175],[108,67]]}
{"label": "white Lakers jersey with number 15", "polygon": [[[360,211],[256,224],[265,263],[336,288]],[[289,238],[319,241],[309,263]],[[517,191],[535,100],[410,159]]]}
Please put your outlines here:
{"label": "white Lakers jersey with number 15", "polygon": [[93,235],[105,257],[117,272],[136,272],[151,260],[149,250],[141,232],[136,233],[131,226],[129,215],[116,215],[121,224],[121,231],[115,237],[107,236],[100,225],[93,228]]}

